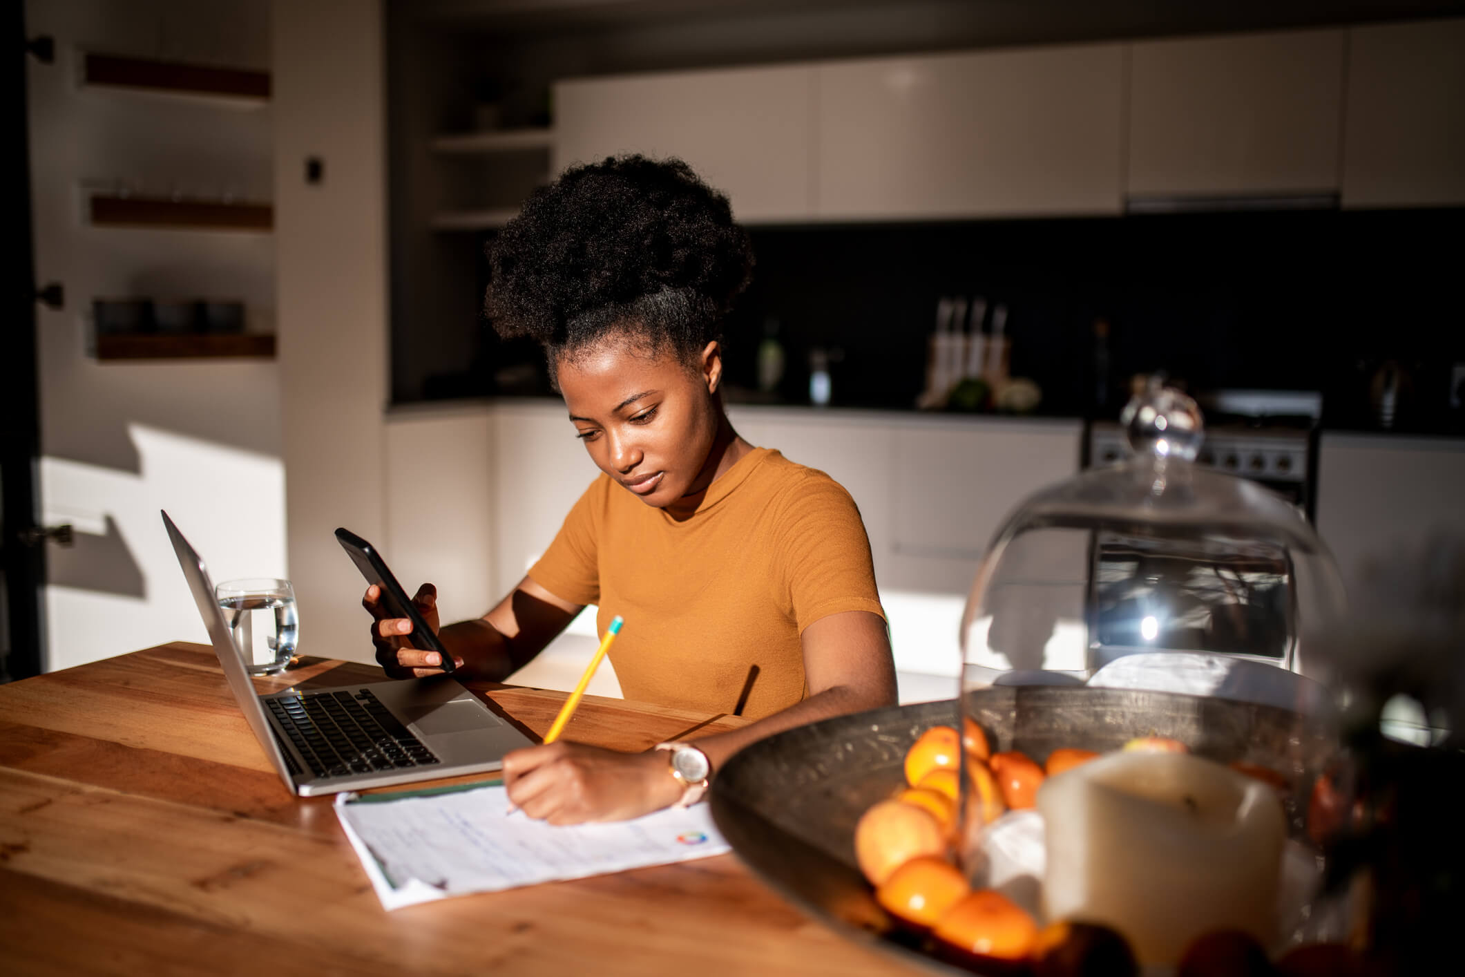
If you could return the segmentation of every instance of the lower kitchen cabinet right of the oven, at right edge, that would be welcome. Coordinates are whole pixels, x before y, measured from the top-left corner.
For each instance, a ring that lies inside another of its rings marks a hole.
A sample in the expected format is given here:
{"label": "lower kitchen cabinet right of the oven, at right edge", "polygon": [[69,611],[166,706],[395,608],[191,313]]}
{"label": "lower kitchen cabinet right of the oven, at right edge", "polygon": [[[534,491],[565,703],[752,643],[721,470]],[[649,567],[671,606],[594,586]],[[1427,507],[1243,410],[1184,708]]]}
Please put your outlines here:
{"label": "lower kitchen cabinet right of the oven, at right edge", "polygon": [[1399,560],[1442,532],[1465,538],[1462,486],[1465,439],[1324,434],[1317,532],[1349,590],[1368,560]]}

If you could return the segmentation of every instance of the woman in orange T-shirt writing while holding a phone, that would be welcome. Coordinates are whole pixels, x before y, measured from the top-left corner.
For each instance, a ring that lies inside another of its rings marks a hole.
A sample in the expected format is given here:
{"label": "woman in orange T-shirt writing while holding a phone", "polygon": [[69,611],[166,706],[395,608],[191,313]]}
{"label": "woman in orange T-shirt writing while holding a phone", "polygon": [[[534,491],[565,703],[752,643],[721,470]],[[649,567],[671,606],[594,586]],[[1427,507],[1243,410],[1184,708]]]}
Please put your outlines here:
{"label": "woman in orange T-shirt writing while holding a phone", "polygon": [[[438,631],[464,678],[500,681],[587,603],[627,699],[754,719],[639,754],[558,741],[504,759],[508,798],[565,825],[697,800],[738,748],[895,702],[870,546],[850,495],[740,438],[722,410],[721,321],[752,250],[725,196],[681,161],[621,157],[565,171],[492,246],[488,313],[548,357],[602,475],[492,611]],[[440,672],[401,618],[365,605],[377,659]],[[437,630],[437,592],[415,602]]]}

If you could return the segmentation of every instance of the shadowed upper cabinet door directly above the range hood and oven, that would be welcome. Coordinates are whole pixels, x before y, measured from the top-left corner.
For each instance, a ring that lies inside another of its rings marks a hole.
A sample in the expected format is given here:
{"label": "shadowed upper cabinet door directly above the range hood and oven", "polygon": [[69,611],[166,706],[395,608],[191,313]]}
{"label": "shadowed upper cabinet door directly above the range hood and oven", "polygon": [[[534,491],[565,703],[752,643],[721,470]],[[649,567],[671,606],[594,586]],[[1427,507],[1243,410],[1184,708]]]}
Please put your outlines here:
{"label": "shadowed upper cabinet door directly above the range hood and oven", "polygon": [[1131,195],[1338,189],[1343,31],[1137,41]]}

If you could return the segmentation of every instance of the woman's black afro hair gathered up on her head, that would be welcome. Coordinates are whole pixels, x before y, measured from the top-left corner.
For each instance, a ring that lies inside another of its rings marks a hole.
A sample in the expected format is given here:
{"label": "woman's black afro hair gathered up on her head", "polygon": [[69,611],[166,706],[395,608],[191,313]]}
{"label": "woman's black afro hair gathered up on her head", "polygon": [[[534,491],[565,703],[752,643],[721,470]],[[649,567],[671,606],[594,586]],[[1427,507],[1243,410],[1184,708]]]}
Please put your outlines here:
{"label": "woman's black afro hair gathered up on her head", "polygon": [[721,338],[753,249],[681,160],[608,157],[541,187],[489,246],[485,312],[549,359],[624,333],[686,359]]}

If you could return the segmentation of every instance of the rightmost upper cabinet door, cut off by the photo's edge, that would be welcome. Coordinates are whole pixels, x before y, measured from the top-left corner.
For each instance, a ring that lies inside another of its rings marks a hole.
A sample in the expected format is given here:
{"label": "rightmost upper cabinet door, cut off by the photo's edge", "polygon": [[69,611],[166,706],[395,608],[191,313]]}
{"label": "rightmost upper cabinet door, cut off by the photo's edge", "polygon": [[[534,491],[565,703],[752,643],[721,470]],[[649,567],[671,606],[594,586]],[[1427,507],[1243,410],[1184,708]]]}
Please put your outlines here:
{"label": "rightmost upper cabinet door, cut off by the photo's edge", "polygon": [[1465,18],[1349,31],[1343,207],[1465,204]]}

